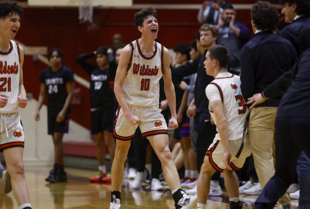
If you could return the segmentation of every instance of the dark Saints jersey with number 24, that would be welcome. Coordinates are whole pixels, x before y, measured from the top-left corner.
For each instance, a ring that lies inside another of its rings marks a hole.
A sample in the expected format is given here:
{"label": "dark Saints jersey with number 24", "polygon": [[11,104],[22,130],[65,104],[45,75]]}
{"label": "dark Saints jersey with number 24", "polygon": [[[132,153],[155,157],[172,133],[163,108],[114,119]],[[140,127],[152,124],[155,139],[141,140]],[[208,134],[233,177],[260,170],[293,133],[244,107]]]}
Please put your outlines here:
{"label": "dark Saints jersey with number 24", "polygon": [[73,70],[61,66],[58,71],[53,72],[52,68],[48,67],[41,72],[38,81],[46,85],[47,106],[62,108],[68,96],[66,85],[74,81]]}

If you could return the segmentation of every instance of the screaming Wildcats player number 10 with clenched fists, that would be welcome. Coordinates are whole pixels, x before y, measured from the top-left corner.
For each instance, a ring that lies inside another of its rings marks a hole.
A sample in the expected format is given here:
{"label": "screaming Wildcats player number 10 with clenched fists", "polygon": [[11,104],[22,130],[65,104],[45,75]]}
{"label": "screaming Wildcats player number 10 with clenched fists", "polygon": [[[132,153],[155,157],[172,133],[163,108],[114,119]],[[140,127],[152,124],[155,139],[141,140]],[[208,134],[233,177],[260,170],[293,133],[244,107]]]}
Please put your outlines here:
{"label": "screaming Wildcats player number 10 with clenched fists", "polygon": [[169,51],[155,42],[158,33],[157,11],[152,7],[137,12],[135,25],[141,38],[132,41],[121,52],[116,72],[114,93],[120,104],[114,128],[116,137],[115,159],[112,165],[110,209],[121,208],[121,188],[124,162],[139,126],[162,163],[162,170],[175,200],[175,208],[189,208],[196,196],[187,196],[181,189],[179,176],[168,146],[166,121],[159,109],[159,79],[163,76],[169,102],[170,128],[177,128],[175,91],[171,81]]}

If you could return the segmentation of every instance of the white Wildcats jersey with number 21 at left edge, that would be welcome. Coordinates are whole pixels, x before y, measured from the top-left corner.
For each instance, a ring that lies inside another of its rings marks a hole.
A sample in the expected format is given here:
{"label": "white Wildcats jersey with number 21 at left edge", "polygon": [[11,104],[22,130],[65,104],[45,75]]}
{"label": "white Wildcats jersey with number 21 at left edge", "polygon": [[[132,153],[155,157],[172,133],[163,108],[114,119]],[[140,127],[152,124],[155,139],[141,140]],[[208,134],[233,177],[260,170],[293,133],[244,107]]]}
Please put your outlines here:
{"label": "white Wildcats jersey with number 21 at left edge", "polygon": [[10,40],[10,50],[0,51],[0,94],[7,95],[8,102],[0,108],[0,113],[18,111],[18,92],[20,78],[20,49],[15,41]]}

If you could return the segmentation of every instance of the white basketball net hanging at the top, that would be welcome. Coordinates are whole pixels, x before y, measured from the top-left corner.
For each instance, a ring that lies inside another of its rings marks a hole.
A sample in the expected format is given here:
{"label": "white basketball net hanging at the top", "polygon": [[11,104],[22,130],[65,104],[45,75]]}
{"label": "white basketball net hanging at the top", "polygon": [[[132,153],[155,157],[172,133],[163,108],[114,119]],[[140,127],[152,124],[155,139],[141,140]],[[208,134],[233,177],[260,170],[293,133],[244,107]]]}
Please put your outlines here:
{"label": "white basketball net hanging at the top", "polygon": [[93,22],[94,1],[95,0],[78,0],[78,19],[80,23],[85,23],[87,21],[90,23]]}

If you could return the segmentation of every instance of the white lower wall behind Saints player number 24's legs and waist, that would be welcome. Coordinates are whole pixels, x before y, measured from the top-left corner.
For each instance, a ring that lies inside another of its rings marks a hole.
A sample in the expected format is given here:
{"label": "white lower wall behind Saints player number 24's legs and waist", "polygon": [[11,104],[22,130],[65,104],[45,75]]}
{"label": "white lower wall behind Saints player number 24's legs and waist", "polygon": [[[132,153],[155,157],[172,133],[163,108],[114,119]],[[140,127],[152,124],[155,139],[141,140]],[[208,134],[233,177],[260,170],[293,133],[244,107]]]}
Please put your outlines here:
{"label": "white lower wall behind Saints player number 24's legs and waist", "polygon": [[[29,99],[27,107],[19,111],[25,134],[24,164],[52,165],[54,145],[51,135],[47,135],[47,106],[42,106],[38,122],[34,120],[36,107],[37,100]],[[91,142],[90,130],[70,120],[69,133],[64,134],[65,141]]]}

